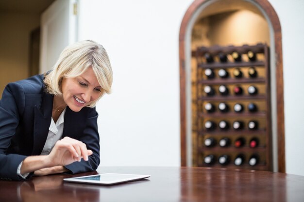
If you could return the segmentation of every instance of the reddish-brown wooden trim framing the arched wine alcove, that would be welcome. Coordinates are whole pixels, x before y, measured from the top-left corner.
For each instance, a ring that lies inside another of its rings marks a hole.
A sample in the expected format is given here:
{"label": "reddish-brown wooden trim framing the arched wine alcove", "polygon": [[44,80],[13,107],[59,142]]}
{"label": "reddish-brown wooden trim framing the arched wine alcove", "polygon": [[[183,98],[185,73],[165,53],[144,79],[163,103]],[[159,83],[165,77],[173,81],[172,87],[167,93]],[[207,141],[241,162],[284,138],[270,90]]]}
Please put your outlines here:
{"label": "reddish-brown wooden trim framing the arched wine alcove", "polygon": [[[185,35],[186,27],[195,11],[208,0],[194,0],[183,18],[179,34],[180,57],[180,102],[181,102],[181,165],[186,166],[186,70],[185,70]],[[285,124],[284,124],[284,83],[282,60],[282,33],[279,17],[268,0],[254,0],[265,11],[274,31],[276,65],[276,104],[277,104],[277,146],[278,170],[285,172]]]}

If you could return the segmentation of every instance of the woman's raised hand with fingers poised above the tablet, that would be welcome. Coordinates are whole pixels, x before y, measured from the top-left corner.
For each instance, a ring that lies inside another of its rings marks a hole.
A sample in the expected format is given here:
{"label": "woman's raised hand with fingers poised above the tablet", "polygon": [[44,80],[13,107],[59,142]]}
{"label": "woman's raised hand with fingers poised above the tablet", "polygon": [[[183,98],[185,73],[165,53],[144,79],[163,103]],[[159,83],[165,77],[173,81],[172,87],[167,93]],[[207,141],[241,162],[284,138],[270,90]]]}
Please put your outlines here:
{"label": "woman's raised hand with fingers poised above the tablet", "polygon": [[92,154],[93,152],[88,150],[82,141],[65,137],[55,143],[51,153],[47,155],[47,161],[51,167],[66,166],[75,161],[80,161],[81,158],[87,161],[88,155]]}

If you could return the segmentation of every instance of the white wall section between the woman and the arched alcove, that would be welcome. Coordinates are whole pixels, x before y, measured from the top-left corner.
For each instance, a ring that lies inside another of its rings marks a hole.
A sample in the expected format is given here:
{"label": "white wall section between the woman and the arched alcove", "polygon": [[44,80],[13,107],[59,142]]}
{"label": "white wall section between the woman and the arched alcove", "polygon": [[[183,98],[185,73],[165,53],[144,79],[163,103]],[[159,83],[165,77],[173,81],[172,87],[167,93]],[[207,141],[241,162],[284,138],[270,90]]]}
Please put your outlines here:
{"label": "white wall section between the woman and the arched alcove", "polygon": [[180,165],[178,37],[190,2],[80,1],[79,39],[100,42],[114,72],[97,106],[101,166]]}

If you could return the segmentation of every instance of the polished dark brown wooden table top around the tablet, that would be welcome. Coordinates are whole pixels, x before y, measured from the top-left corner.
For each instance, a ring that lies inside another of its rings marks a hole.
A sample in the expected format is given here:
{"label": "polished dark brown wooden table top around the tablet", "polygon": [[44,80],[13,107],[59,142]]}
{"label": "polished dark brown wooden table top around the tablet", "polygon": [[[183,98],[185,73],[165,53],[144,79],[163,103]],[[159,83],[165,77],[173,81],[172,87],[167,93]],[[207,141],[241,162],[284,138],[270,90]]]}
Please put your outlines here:
{"label": "polished dark brown wooden table top around the tablet", "polygon": [[[112,186],[63,182],[106,172],[151,177]],[[0,202],[304,202],[304,176],[220,168],[100,167],[76,175],[0,181]]]}

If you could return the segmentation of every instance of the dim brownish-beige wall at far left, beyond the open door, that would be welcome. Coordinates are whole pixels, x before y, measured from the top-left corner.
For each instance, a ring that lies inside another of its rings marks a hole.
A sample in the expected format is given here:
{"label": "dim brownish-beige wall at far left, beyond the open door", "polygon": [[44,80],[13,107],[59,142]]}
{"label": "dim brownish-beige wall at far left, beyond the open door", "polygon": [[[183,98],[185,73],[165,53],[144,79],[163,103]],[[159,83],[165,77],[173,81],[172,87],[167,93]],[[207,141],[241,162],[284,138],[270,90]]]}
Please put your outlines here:
{"label": "dim brownish-beige wall at far left, beyond the open door", "polygon": [[0,12],[0,97],[7,83],[29,76],[30,33],[39,15]]}

